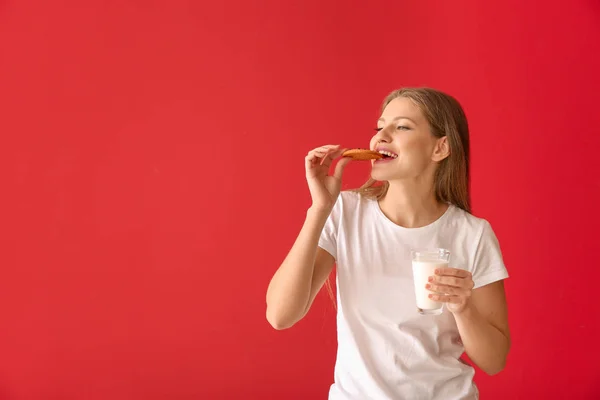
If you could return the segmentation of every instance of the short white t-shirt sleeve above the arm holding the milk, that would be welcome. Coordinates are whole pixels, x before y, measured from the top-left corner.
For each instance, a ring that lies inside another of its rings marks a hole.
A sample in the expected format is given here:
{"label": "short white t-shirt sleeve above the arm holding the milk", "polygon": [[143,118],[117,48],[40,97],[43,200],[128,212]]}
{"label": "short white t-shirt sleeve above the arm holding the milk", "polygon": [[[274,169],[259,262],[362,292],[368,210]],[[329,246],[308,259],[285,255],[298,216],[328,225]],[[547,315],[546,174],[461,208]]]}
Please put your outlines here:
{"label": "short white t-shirt sleeve above the arm holding the milk", "polygon": [[475,251],[473,281],[475,289],[508,278],[498,238],[486,220]]}

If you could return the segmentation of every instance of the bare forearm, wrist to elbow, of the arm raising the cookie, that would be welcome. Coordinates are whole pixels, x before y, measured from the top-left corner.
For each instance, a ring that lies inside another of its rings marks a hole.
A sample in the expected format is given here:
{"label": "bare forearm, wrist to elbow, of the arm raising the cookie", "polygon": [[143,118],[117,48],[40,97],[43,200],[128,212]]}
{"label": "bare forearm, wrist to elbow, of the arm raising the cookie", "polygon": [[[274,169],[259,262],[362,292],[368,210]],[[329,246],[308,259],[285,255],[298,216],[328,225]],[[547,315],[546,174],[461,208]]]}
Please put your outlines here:
{"label": "bare forearm, wrist to elbow, of the arm raising the cookie", "polygon": [[312,208],[307,211],[296,241],[269,283],[267,319],[274,326],[290,326],[304,315],[310,299],[319,237],[329,212]]}

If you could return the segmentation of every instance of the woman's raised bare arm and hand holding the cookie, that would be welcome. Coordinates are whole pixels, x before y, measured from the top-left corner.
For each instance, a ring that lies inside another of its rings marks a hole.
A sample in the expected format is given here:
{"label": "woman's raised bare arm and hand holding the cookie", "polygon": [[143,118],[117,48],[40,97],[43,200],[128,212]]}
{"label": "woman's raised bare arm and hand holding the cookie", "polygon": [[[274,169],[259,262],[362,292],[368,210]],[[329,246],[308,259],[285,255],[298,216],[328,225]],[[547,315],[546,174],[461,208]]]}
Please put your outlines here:
{"label": "woman's raised bare arm and hand holding the cookie", "polygon": [[341,155],[339,146],[323,146],[305,158],[306,180],[312,206],[287,256],[267,289],[267,320],[275,329],[286,329],[301,320],[331,273],[334,258],[318,245],[327,218],[340,193],[342,173],[350,159],[329,167]]}

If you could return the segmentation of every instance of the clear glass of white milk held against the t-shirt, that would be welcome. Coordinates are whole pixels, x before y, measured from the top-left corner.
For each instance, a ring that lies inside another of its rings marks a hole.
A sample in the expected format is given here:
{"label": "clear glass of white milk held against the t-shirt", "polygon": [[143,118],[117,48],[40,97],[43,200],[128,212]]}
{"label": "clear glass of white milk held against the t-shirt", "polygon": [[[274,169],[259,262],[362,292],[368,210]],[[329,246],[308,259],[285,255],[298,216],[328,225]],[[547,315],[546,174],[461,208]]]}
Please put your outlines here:
{"label": "clear glass of white milk held against the t-shirt", "polygon": [[439,315],[442,313],[444,303],[433,301],[429,298],[431,292],[425,288],[430,276],[435,275],[436,268],[448,267],[450,251],[446,249],[414,249],[411,251],[413,282],[417,310],[423,315]]}

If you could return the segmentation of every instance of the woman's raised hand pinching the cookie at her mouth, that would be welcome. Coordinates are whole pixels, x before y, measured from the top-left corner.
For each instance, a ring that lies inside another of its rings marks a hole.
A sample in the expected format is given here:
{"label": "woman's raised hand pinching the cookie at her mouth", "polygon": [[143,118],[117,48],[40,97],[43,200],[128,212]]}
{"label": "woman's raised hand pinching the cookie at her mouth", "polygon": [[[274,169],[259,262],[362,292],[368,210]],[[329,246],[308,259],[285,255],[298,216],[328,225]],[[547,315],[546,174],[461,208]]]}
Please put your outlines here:
{"label": "woman's raised hand pinching the cookie at her mouth", "polygon": [[306,181],[312,197],[312,207],[331,210],[342,186],[344,167],[352,158],[342,158],[335,167],[333,175],[329,174],[331,163],[340,157],[345,149],[339,145],[318,147],[308,152],[305,157]]}

